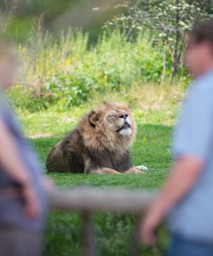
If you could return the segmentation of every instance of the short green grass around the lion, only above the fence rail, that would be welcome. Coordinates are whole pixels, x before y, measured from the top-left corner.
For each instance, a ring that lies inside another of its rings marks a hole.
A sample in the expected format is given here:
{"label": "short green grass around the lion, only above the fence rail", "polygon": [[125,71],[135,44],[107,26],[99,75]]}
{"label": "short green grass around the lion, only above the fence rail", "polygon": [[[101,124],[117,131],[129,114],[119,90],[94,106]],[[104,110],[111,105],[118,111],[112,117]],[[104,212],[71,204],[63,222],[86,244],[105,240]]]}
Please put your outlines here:
{"label": "short green grass around the lion, only above the fence rail", "polygon": [[[96,187],[123,187],[126,189],[154,189],[165,179],[170,164],[171,128],[161,125],[138,125],[138,135],[132,147],[133,164],[149,168],[146,175],[72,175],[70,173],[51,173],[50,177],[59,187],[73,187],[89,184]],[[42,163],[61,137],[31,139]]]}

